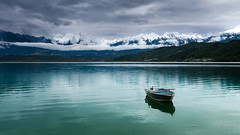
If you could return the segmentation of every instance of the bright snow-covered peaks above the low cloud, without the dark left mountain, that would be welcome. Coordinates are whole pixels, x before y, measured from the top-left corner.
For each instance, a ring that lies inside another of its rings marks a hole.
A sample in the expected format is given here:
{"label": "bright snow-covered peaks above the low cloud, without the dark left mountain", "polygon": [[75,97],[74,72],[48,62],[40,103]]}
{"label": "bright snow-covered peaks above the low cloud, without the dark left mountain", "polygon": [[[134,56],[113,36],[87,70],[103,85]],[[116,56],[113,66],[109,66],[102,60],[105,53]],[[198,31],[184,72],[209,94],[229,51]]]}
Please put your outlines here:
{"label": "bright snow-covered peaks above the low cloud, without the dark left mountain", "polygon": [[208,35],[200,35],[196,33],[181,34],[177,32],[167,32],[163,35],[150,33],[114,40],[96,39],[90,35],[86,36],[84,34],[66,34],[64,36],[58,34],[53,37],[53,43],[59,45],[99,45],[99,47],[105,45],[111,48],[119,48],[119,46],[129,46],[129,49],[131,49],[130,46],[132,46],[134,49],[136,46],[155,48],[162,46],[179,46],[190,42],[228,42],[236,39],[240,39],[240,33],[228,31]]}

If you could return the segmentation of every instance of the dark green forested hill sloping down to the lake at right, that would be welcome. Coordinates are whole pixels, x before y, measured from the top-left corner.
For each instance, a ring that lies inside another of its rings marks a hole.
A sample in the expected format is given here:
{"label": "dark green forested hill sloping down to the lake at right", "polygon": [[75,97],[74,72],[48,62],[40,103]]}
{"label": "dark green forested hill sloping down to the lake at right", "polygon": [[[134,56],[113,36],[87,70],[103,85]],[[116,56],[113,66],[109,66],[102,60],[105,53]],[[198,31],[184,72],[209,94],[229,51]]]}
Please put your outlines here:
{"label": "dark green forested hill sloping down to the lake at right", "polygon": [[228,43],[189,43],[182,46],[161,47],[154,50],[124,55],[113,61],[240,61],[240,40]]}

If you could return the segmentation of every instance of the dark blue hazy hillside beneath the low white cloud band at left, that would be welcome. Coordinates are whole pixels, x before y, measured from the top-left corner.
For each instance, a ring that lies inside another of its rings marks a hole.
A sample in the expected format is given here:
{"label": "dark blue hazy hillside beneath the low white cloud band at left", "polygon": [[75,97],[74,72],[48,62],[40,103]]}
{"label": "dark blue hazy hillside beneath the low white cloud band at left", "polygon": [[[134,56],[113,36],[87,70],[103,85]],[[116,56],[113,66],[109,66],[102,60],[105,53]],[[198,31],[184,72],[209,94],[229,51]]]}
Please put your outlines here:
{"label": "dark blue hazy hillside beneath the low white cloud band at left", "polygon": [[86,51],[59,51],[37,47],[16,46],[9,43],[0,43],[0,62],[21,61],[107,61],[127,54],[136,54],[146,49],[135,50],[86,50]]}

